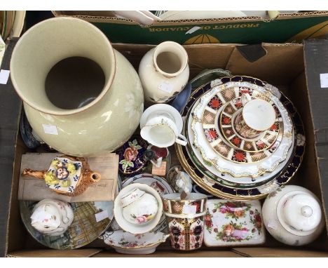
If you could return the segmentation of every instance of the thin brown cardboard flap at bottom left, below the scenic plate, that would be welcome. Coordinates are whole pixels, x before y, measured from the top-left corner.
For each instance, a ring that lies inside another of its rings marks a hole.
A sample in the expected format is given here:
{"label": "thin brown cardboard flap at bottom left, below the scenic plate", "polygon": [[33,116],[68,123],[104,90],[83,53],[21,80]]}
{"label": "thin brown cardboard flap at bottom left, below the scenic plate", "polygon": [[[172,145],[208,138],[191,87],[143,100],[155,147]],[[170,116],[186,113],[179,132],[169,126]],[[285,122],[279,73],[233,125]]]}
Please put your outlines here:
{"label": "thin brown cardboard flap at bottom left, below the scenic plate", "polygon": [[18,250],[8,253],[6,257],[92,257],[99,253],[99,248],[83,248],[74,250]]}

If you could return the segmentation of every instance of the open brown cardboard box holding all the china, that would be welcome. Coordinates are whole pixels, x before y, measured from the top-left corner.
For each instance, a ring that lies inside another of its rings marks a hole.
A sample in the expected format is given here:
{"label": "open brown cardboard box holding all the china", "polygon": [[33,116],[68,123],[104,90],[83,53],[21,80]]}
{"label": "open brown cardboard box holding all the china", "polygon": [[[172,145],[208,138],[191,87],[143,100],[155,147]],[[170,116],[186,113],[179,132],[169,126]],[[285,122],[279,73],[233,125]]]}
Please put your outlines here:
{"label": "open brown cardboard box holding all the china", "polygon": [[[15,41],[13,41],[15,42]],[[313,42],[313,43],[312,43]],[[11,45],[11,43],[10,43]],[[136,68],[139,61],[146,51],[153,46],[145,45],[128,45],[128,44],[114,44],[114,47],[123,53],[132,65]],[[262,43],[261,46],[241,46],[237,44],[200,44],[185,46],[189,54],[189,66],[191,68],[191,78],[198,74],[203,69],[208,68],[224,68],[229,69],[233,74],[242,74],[248,76],[255,76],[259,79],[268,81],[292,100],[296,108],[299,110],[306,130],[306,153],[303,159],[301,168],[291,180],[290,184],[301,185],[314,192],[322,201],[326,201],[327,208],[327,185],[324,177],[327,175],[327,135],[325,144],[322,141],[322,134],[317,137],[317,133],[322,133],[327,130],[327,114],[324,112],[327,100],[328,91],[320,91],[320,93],[313,93],[317,89],[318,81],[320,83],[319,72],[327,72],[328,62],[324,61],[324,55],[328,53],[327,41],[311,41],[309,48],[307,44],[303,46],[299,43]],[[304,60],[304,49],[306,51]],[[6,51],[8,53],[8,51]],[[317,59],[320,59],[316,61]],[[308,60],[310,59],[310,60]],[[316,69],[317,63],[322,64],[322,69]],[[6,55],[6,64],[8,64],[8,55]],[[5,65],[4,67],[8,67]],[[310,69],[309,69],[310,68]],[[319,71],[319,72],[318,72]],[[319,79],[319,80],[318,80]],[[307,85],[310,92],[307,90]],[[1,88],[0,88],[1,89]],[[18,133],[19,120],[19,102],[15,98],[15,92],[11,83],[6,85],[6,91],[13,96],[14,100],[8,98],[1,98],[1,105],[4,102],[7,109],[11,106],[12,121],[8,123],[10,133],[13,135]],[[1,90],[0,90],[1,94]],[[321,95],[320,95],[321,94]],[[310,99],[309,99],[310,96]],[[322,97],[322,101],[320,98]],[[6,96],[5,96],[6,97]],[[11,101],[8,105],[6,101]],[[327,108],[326,108],[327,109]],[[313,116],[319,116],[318,118]],[[3,116],[2,116],[3,117]],[[1,117],[1,125],[4,119]],[[324,121],[324,123],[319,122]],[[2,128],[2,127],[1,127]],[[6,125],[7,128],[7,125]],[[319,130],[319,131],[317,131]],[[327,132],[326,132],[327,133]],[[1,136],[1,143],[3,142]],[[319,139],[319,140],[318,140]],[[317,142],[320,142],[320,145]],[[105,248],[102,241],[97,240],[90,243],[85,248],[76,250],[52,250],[45,248],[41,244],[34,241],[29,236],[22,221],[20,220],[18,195],[18,179],[20,174],[21,156],[27,152],[27,148],[23,144],[20,135],[17,135],[17,140],[8,140],[8,154],[6,161],[12,163],[10,157],[15,154],[14,165],[7,165],[5,168],[5,175],[3,179],[10,181],[12,178],[11,201],[6,208],[9,209],[9,217],[7,222],[6,234],[6,255],[15,257],[128,257],[129,255],[121,255],[116,253],[113,248]],[[317,145],[317,146],[315,146]],[[2,149],[2,148],[1,148]],[[171,148],[171,152],[175,152]],[[325,159],[317,159],[317,156]],[[6,156],[7,157],[7,156]],[[1,163],[1,162],[0,162]],[[324,166],[326,163],[326,166]],[[172,166],[178,164],[177,157],[173,157]],[[1,166],[2,167],[2,166]],[[13,177],[10,177],[13,175]],[[326,177],[327,178],[327,177]],[[8,189],[8,188],[6,188]],[[1,194],[4,187],[1,187]],[[6,193],[5,193],[6,194]],[[4,200],[6,201],[6,200]],[[325,210],[324,217],[326,218],[326,225],[328,222],[327,210]],[[1,216],[1,220],[5,217]],[[1,231],[1,230],[0,230]],[[1,236],[0,236],[1,237]],[[131,256],[131,255],[130,255]],[[149,257],[328,257],[328,239],[327,230],[325,230],[319,239],[308,246],[300,248],[285,246],[278,241],[275,241],[267,233],[267,241],[264,245],[258,247],[246,248],[206,248],[203,246],[200,250],[184,253],[173,250],[168,243],[160,245],[156,253],[149,255]],[[145,257],[139,255],[139,257]]]}

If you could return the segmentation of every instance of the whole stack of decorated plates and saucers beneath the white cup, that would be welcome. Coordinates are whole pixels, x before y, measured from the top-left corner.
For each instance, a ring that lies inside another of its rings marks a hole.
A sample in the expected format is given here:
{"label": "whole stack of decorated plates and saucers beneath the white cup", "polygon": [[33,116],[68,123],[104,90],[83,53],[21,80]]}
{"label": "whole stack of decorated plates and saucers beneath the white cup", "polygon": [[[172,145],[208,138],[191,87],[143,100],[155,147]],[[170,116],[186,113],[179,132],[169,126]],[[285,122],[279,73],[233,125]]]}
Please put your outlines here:
{"label": "whole stack of decorated plates and saucers beneath the white cup", "polygon": [[[276,120],[258,138],[242,138],[231,125],[240,97],[266,100]],[[288,182],[303,158],[303,123],[277,88],[247,76],[216,79],[193,91],[182,115],[189,144],[176,145],[182,166],[197,185],[226,199],[259,199]]]}

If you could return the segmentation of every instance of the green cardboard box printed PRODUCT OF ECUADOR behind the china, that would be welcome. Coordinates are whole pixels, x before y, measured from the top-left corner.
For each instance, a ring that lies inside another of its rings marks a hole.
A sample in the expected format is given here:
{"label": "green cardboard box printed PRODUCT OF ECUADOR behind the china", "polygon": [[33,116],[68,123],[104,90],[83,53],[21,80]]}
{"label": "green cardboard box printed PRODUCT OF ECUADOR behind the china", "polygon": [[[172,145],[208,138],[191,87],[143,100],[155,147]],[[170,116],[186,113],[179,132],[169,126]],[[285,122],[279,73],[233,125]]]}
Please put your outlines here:
{"label": "green cardboard box printed PRODUCT OF ECUADOR behind the china", "polygon": [[[74,11],[74,14],[77,13]],[[101,29],[113,43],[158,44],[168,40],[184,45],[285,43],[328,36],[328,11],[280,14],[271,20],[260,17],[170,20],[154,22],[150,26],[121,18],[71,15],[71,11],[53,11],[53,14],[69,14],[67,16],[87,20]]]}

